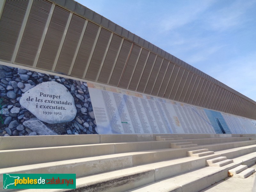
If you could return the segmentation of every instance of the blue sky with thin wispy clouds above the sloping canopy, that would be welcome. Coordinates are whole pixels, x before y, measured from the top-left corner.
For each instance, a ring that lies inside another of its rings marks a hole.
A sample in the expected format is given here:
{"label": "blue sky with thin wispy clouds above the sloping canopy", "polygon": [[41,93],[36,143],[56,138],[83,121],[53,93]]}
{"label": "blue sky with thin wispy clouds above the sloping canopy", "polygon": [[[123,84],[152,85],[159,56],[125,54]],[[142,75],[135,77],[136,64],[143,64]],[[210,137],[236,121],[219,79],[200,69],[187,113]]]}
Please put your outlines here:
{"label": "blue sky with thin wispy clouds above the sloping canopy", "polygon": [[78,0],[256,101],[256,0]]}

